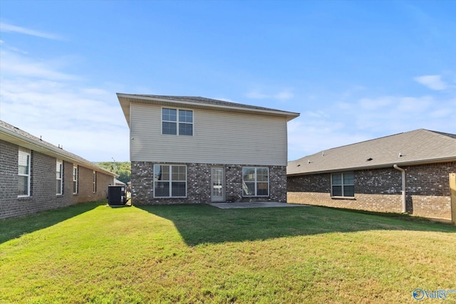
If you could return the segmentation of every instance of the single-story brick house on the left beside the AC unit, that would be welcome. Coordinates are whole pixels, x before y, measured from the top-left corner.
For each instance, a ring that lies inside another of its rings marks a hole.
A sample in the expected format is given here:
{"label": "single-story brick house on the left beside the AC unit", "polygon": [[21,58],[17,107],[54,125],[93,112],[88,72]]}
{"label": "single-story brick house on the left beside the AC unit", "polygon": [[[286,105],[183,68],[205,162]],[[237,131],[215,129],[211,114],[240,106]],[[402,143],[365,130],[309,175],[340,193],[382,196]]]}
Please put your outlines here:
{"label": "single-story brick house on the left beside the AC unit", "polygon": [[0,120],[0,219],[105,199],[115,177]]}

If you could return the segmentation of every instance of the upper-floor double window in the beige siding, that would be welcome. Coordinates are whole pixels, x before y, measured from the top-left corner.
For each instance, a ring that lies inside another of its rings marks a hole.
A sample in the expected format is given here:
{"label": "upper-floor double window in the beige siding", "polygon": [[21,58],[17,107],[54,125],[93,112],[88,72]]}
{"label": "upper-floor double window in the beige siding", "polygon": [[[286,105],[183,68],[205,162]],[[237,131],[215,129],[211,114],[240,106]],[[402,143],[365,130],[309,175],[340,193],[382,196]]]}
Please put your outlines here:
{"label": "upper-floor double window in the beige siding", "polygon": [[162,108],[162,134],[193,136],[193,111]]}

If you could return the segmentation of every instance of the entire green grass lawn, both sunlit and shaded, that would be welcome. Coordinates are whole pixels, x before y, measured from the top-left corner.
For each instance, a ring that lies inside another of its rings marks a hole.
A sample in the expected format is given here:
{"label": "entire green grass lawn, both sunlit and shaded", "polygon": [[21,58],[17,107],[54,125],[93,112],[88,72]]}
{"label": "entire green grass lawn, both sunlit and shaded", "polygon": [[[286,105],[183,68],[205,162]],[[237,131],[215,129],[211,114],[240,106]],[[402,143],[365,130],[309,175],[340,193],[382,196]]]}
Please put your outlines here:
{"label": "entire green grass lawn, both sunlit and shaded", "polygon": [[0,221],[0,303],[415,303],[415,288],[456,289],[449,224],[104,204]]}

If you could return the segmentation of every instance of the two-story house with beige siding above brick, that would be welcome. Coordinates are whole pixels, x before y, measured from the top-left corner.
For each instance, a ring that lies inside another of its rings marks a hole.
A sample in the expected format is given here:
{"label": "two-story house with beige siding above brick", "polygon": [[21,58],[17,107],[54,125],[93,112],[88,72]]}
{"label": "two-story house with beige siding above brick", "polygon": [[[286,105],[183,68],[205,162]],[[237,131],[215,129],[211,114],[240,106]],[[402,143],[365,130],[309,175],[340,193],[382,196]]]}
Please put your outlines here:
{"label": "two-story house with beige siding above brick", "polygon": [[199,97],[118,99],[133,204],[286,201],[286,124],[298,113]]}

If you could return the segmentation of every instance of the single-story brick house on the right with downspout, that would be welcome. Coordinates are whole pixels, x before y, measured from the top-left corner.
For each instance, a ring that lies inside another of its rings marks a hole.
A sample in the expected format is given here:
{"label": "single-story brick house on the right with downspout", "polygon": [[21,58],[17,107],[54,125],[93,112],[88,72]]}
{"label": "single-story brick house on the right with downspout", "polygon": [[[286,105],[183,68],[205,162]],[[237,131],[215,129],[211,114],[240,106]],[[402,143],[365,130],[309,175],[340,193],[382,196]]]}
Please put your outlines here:
{"label": "single-story brick house on the right with downspout", "polygon": [[455,172],[456,135],[420,129],[289,162],[288,201],[454,221]]}

